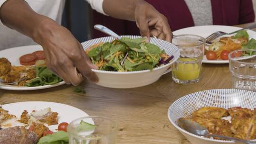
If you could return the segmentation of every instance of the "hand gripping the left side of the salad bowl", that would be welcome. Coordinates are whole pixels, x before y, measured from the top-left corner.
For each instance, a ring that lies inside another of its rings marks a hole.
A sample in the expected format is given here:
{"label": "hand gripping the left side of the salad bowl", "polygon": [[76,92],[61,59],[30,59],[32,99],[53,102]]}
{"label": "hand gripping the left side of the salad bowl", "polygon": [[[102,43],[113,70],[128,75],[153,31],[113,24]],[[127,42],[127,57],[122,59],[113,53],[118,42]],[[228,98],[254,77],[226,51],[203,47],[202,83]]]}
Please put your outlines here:
{"label": "hand gripping the left side of the salad bowl", "polygon": [[38,34],[34,40],[43,46],[47,67],[67,84],[78,85],[84,78],[98,82],[98,77],[91,71],[91,68],[98,68],[69,30],[55,22],[47,22]]}

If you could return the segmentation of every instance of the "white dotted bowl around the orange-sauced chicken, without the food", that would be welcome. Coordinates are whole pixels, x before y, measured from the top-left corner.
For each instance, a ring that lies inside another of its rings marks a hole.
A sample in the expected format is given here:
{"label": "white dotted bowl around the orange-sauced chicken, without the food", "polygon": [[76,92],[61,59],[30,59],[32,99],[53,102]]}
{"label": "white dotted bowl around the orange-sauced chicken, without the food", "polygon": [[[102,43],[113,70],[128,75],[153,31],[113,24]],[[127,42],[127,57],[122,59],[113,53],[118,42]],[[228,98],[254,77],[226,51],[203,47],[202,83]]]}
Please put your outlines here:
{"label": "white dotted bowl around the orange-sauced chicken, without the food", "polygon": [[228,144],[232,141],[214,140],[193,135],[176,124],[180,117],[191,116],[192,112],[202,107],[242,107],[256,108],[256,92],[235,89],[217,89],[195,92],[177,99],[168,109],[170,122],[191,142],[191,144]]}

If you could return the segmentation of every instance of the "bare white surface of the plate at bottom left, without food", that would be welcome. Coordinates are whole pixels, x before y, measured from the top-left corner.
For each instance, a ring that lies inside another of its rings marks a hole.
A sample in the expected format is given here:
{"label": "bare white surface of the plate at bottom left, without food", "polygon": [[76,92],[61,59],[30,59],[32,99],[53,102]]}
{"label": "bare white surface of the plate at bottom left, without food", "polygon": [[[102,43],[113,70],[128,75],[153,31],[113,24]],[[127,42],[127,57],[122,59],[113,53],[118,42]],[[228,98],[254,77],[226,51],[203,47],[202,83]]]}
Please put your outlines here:
{"label": "bare white surface of the plate at bottom left, without food", "polygon": [[[44,108],[51,108],[53,112],[58,113],[58,123],[66,122],[71,123],[73,120],[80,117],[88,117],[89,115],[82,111],[81,109],[61,104],[55,102],[46,102],[46,101],[27,101],[27,102],[17,102],[2,105],[2,108],[9,111],[9,114],[15,115],[20,119],[20,115],[24,110],[28,111],[28,114],[32,110],[41,110]],[[87,121],[86,121],[87,122]],[[88,121],[88,123],[93,123]],[[56,131],[58,125],[48,126],[51,131]]]}

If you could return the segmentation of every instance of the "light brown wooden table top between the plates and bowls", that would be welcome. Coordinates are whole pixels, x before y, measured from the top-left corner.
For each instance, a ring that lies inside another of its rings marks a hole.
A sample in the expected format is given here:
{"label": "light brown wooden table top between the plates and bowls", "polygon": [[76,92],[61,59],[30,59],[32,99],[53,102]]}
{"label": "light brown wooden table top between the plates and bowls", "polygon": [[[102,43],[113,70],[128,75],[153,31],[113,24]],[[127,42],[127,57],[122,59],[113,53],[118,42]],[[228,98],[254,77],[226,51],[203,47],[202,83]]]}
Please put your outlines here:
{"label": "light brown wooden table top between the plates and bowls", "polygon": [[74,93],[72,85],[33,91],[0,90],[0,104],[51,101],[80,108],[91,116],[109,117],[118,124],[117,144],[190,144],[169,122],[168,107],[192,92],[231,88],[228,64],[202,67],[202,80],[193,85],[174,83],[171,73],[135,89],[110,89],[84,81],[80,86],[86,94]]}

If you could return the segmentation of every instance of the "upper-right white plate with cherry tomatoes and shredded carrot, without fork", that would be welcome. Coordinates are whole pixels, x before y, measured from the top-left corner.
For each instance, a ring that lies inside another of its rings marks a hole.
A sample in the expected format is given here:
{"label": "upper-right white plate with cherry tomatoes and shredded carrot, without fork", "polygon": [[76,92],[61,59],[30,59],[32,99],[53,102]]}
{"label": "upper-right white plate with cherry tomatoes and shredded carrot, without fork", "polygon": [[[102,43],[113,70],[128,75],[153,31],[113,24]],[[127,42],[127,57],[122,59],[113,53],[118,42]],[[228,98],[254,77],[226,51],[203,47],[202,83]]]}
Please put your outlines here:
{"label": "upper-right white plate with cherry tomatoes and shredded carrot, without fork", "polygon": [[[197,26],[187,27],[174,31],[174,35],[193,34],[202,37],[210,36],[217,31],[234,32],[241,27],[231,26]],[[203,63],[229,63],[228,54],[238,49],[256,49],[256,32],[252,30],[239,31],[234,35],[225,35],[217,38],[211,45],[205,46]]]}

